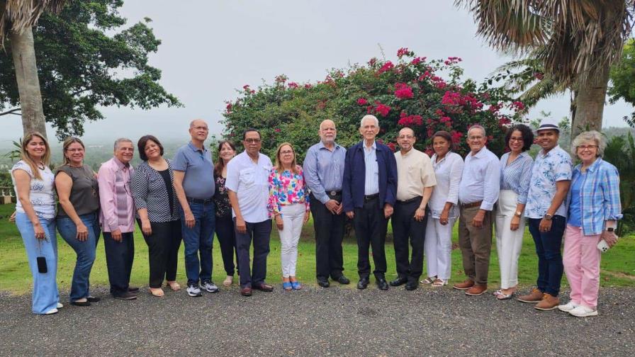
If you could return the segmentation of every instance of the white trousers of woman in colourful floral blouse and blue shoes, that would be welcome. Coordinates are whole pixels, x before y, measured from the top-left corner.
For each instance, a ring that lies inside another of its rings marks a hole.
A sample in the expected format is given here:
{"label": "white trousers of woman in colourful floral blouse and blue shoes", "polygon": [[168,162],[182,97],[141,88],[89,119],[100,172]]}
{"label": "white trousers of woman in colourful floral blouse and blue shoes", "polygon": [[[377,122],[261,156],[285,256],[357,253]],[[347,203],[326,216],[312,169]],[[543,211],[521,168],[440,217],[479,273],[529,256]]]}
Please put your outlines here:
{"label": "white trousers of woman in colourful floral blouse and blue shoes", "polygon": [[282,260],[282,276],[296,276],[296,264],[298,263],[298,241],[306,205],[304,203],[293,203],[293,205],[283,205],[281,210],[283,229],[278,229],[280,235],[280,256]]}

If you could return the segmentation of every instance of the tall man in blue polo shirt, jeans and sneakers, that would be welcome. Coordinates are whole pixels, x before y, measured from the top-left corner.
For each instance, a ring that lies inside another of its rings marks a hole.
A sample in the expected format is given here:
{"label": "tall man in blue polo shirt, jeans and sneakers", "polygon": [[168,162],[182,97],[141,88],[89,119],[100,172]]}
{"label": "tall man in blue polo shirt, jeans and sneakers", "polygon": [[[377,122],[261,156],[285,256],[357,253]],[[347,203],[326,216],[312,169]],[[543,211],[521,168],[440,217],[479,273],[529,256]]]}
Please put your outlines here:
{"label": "tall man in blue polo shirt, jeans and sneakers", "polygon": [[[176,151],[172,169],[176,196],[181,203],[187,293],[201,296],[201,285],[210,293],[218,292],[212,281],[214,165],[212,154],[204,145],[209,133],[207,123],[201,119],[192,120],[189,132],[192,140]],[[198,285],[199,281],[201,285]]]}

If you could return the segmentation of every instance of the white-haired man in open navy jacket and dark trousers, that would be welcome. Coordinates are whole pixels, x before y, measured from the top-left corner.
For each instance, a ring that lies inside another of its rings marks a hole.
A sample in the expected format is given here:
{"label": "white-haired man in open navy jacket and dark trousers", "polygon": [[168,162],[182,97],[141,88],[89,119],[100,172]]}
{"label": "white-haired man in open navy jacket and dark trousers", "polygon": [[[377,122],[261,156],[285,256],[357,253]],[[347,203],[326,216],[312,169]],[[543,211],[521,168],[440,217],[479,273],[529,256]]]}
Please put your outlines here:
{"label": "white-haired man in open navy jacket and dark trousers", "polygon": [[359,133],[364,139],[347,150],[342,203],[344,212],[353,220],[357,238],[357,288],[369,285],[372,246],[377,286],[388,290],[384,242],[397,196],[397,162],[389,147],[375,141],[378,132],[379,120],[374,115],[361,118]]}

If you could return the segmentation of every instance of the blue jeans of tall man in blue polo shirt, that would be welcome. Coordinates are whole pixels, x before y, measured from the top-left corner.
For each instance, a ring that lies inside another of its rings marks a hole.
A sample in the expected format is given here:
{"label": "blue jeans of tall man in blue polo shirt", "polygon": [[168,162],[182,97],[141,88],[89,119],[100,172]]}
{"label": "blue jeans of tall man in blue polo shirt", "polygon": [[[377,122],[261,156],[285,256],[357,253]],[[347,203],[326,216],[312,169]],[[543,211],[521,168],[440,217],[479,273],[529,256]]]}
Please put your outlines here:
{"label": "blue jeans of tall man in blue polo shirt", "polygon": [[212,280],[212,241],[216,216],[213,202],[193,203],[190,200],[189,205],[196,223],[192,228],[187,227],[185,214],[181,209],[181,232],[185,244],[187,283],[196,285],[199,281]]}

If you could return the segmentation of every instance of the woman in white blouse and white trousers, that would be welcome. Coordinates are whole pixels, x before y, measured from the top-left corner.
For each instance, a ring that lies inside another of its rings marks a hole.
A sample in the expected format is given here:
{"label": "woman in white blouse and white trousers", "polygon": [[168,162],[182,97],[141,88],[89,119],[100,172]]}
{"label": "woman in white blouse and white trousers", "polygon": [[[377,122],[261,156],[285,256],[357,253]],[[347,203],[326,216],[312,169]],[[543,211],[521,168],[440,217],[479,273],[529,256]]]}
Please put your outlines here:
{"label": "woman in white blouse and white trousers", "polygon": [[432,136],[432,167],[437,186],[432,191],[425,230],[424,253],[428,278],[422,284],[439,287],[447,285],[451,276],[452,227],[459,217],[459,182],[463,173],[463,159],[451,152],[452,137],[439,131]]}

